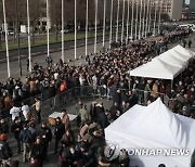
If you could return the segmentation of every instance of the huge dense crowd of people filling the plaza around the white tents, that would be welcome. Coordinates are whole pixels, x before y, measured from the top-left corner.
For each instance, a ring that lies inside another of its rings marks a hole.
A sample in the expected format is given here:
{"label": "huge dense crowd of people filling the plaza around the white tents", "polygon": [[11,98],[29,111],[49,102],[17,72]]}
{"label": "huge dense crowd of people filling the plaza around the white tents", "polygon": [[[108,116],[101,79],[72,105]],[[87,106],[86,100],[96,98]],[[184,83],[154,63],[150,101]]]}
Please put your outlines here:
{"label": "huge dense crowd of people filling the plaza around the white tents", "polygon": [[[129,166],[130,159],[125,150],[112,162],[107,160],[104,152],[104,128],[123,112],[136,103],[146,105],[158,97],[165,99],[166,94],[171,99],[168,105],[174,113],[195,118],[194,60],[183,72],[185,77],[176,78],[172,90],[167,80],[129,76],[130,69],[147,63],[162,52],[164,48],[167,50],[169,42],[182,41],[188,35],[186,30],[173,30],[158,40],[155,38],[130,42],[128,46],[121,44],[93,57],[87,56],[87,64],[79,66],[63,63],[62,60],[52,64],[51,60],[47,60],[50,62],[47,68],[35,63],[34,70],[26,77],[25,82],[9,78],[5,84],[0,84],[2,163],[8,164],[8,159],[13,155],[6,142],[11,129],[17,143],[17,154],[23,150],[23,162],[30,160],[31,167],[41,167],[48,160],[48,147],[53,138],[54,154],[58,154],[57,162],[61,167]],[[62,110],[63,118],[56,118],[54,129],[41,119],[39,94],[47,91],[44,99],[50,99],[78,87],[80,92],[84,93],[86,86],[91,86],[94,93],[102,91],[102,95],[113,98],[113,106],[106,110],[103,103],[94,102],[88,111],[79,101],[78,136],[73,131],[66,110]],[[34,97],[35,103],[31,105],[29,98]],[[31,107],[35,107],[36,115],[32,114]],[[8,117],[11,118],[11,126],[5,119]]]}

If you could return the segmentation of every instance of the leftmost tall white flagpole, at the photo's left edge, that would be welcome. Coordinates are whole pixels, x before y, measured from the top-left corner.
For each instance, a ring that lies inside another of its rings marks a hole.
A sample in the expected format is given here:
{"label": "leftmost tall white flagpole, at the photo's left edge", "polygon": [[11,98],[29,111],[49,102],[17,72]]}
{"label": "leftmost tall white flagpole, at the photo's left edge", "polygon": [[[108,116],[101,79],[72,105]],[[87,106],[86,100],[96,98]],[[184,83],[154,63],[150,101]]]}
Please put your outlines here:
{"label": "leftmost tall white flagpole, at the photo's left edge", "polygon": [[6,65],[8,65],[8,77],[10,78],[10,55],[9,55],[9,46],[8,46],[8,25],[6,25],[6,13],[5,13],[5,4],[3,3],[3,17],[4,17],[4,37],[5,37],[5,47],[6,47]]}

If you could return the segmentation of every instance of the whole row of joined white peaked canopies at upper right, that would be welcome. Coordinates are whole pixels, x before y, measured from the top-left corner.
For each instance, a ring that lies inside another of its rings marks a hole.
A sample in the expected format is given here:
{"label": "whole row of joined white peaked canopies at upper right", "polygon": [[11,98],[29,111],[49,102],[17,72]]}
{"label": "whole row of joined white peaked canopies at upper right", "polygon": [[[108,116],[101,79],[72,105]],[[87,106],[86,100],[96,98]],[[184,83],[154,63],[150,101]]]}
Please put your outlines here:
{"label": "whole row of joined white peaked canopies at upper right", "polygon": [[151,62],[139,66],[130,72],[130,76],[159,78],[173,80],[193,59],[195,52],[177,46],[169,51],[154,57]]}

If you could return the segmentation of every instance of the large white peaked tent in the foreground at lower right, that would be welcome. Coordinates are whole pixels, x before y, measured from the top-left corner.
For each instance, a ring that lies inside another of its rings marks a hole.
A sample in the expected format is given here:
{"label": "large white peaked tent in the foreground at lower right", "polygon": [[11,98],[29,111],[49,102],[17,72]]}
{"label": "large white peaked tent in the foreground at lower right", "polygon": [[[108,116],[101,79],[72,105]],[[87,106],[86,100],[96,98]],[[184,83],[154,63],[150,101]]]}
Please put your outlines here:
{"label": "large white peaked tent in the foreground at lower right", "polygon": [[187,156],[130,156],[130,167],[190,167],[195,147],[195,120],[173,114],[160,101],[134,105],[105,129],[107,143],[119,149],[187,149]]}

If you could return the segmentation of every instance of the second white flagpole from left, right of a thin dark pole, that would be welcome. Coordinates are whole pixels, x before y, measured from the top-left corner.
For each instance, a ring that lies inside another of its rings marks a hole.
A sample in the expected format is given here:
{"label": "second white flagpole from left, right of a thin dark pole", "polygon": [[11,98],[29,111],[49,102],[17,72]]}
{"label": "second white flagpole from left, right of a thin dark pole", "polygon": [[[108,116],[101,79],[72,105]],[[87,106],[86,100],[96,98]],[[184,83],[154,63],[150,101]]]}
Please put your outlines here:
{"label": "second white flagpole from left, right of a thin dark pole", "polygon": [[29,0],[27,0],[27,22],[28,22],[28,61],[29,61],[29,72],[31,73],[31,48],[30,48]]}

